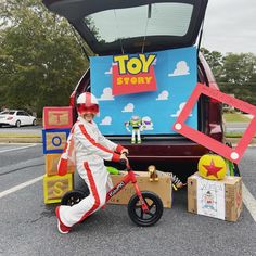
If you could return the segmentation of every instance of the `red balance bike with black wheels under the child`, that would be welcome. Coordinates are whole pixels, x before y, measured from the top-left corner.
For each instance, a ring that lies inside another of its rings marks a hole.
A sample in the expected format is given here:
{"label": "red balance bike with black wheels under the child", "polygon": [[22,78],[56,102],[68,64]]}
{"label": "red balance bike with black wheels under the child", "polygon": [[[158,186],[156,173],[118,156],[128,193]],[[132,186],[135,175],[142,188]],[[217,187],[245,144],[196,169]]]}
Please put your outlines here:
{"label": "red balance bike with black wheels under the child", "polygon": [[[149,227],[155,225],[163,215],[163,202],[158,195],[151,191],[140,191],[137,183],[136,175],[131,169],[129,163],[121,159],[121,164],[126,165],[128,174],[118,182],[113,189],[106,193],[106,202],[121,191],[129,182],[135,187],[136,193],[131,196],[128,203],[128,215],[130,219],[138,226]],[[68,191],[62,197],[62,205],[73,206],[79,203],[82,199],[89,195],[81,190]]]}

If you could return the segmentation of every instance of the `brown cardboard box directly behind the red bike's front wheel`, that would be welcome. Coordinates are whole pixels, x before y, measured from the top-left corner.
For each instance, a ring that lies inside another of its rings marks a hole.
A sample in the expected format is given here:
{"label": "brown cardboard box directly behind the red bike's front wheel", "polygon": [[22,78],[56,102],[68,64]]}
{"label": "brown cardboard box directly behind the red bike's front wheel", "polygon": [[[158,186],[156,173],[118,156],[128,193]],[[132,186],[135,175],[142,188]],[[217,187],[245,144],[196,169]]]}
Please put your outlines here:
{"label": "brown cardboard box directly behind the red bike's front wheel", "polygon": [[[113,184],[115,185],[120,181],[127,172],[121,175],[111,175]],[[137,175],[137,182],[141,191],[152,191],[156,193],[163,201],[163,205],[166,208],[171,208],[171,181],[168,174],[157,171],[158,181],[150,181],[150,175],[148,171],[135,171]],[[130,197],[136,193],[133,184],[127,184],[119,193],[114,195],[108,203],[110,204],[128,204]]]}

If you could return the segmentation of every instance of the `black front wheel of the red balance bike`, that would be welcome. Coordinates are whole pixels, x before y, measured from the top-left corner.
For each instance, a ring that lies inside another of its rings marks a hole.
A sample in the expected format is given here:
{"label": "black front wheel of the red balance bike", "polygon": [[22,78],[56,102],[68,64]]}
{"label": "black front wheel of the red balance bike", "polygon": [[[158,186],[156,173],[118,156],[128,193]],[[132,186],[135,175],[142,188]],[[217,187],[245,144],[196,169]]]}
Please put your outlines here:
{"label": "black front wheel of the red balance bike", "polygon": [[153,192],[141,191],[141,194],[149,207],[149,213],[143,212],[140,199],[135,194],[128,203],[128,215],[138,226],[149,227],[155,225],[163,215],[163,202],[159,196]]}

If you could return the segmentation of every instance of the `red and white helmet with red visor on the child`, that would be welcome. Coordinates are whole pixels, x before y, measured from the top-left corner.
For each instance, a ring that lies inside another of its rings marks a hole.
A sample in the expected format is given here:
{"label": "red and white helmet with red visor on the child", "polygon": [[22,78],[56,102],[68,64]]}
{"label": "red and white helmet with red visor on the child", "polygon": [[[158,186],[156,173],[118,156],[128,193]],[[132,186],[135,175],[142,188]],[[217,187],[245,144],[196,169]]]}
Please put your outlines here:
{"label": "red and white helmet with red visor on the child", "polygon": [[85,113],[98,114],[99,108],[97,98],[90,92],[82,92],[77,98],[77,112],[79,115],[84,115]]}

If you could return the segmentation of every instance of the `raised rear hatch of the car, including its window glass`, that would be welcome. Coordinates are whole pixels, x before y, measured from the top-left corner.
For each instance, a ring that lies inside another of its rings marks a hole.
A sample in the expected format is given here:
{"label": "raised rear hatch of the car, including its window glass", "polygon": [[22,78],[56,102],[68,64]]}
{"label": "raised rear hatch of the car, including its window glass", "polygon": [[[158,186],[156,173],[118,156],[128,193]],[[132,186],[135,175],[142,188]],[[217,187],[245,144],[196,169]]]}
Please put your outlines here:
{"label": "raised rear hatch of the car, including its window glass", "polygon": [[43,0],[99,55],[193,46],[208,0]]}

